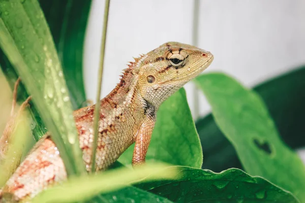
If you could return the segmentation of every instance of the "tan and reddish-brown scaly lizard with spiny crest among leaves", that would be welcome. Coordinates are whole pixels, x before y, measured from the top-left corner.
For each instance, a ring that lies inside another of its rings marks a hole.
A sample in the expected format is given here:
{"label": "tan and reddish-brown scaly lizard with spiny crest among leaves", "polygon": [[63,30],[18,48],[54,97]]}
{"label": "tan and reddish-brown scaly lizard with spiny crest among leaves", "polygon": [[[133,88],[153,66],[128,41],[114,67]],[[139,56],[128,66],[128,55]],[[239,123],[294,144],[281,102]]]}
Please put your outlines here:
{"label": "tan and reddish-brown scaly lizard with spiny crest among leaves", "polygon": [[[143,164],[160,105],[205,70],[214,56],[195,46],[168,42],[134,59],[115,88],[100,100],[96,171],[105,170],[133,143],[132,164]],[[92,105],[73,112],[87,172],[91,171],[94,109]],[[27,201],[65,180],[65,165],[47,133],[7,181],[1,196]]]}

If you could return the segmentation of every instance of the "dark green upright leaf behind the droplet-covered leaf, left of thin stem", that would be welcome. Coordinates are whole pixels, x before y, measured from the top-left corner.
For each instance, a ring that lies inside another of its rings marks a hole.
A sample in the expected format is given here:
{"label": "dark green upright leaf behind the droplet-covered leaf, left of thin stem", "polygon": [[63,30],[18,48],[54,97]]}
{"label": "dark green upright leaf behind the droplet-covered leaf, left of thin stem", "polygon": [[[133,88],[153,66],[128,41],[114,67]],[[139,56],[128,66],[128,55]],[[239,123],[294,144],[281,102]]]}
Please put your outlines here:
{"label": "dark green upright leaf behind the droplet-covered leaf, left of thin stem", "polygon": [[40,1],[63,65],[74,110],[81,108],[86,100],[82,61],[91,2],[89,0]]}

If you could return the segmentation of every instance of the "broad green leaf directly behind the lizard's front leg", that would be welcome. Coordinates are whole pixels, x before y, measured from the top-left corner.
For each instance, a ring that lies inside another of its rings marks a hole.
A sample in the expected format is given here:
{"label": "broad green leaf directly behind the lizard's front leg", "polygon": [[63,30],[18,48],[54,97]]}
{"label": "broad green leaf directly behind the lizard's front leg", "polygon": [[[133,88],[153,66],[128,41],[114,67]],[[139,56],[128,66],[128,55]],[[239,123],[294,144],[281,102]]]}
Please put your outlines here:
{"label": "broad green leaf directly behind the lizard's front leg", "polygon": [[[134,145],[118,159],[130,164]],[[184,88],[170,96],[157,113],[146,160],[200,168],[202,150]]]}

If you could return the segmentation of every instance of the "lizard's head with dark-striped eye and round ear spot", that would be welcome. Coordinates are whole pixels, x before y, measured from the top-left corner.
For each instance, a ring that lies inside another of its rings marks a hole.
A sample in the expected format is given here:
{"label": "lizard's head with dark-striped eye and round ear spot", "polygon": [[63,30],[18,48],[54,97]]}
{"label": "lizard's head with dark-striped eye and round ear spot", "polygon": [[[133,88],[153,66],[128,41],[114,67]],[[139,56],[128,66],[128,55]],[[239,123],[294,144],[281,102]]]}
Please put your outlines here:
{"label": "lizard's head with dark-striped eye and round ear spot", "polygon": [[205,70],[212,60],[210,52],[197,47],[165,43],[136,62],[137,89],[146,101],[159,107],[162,101]]}

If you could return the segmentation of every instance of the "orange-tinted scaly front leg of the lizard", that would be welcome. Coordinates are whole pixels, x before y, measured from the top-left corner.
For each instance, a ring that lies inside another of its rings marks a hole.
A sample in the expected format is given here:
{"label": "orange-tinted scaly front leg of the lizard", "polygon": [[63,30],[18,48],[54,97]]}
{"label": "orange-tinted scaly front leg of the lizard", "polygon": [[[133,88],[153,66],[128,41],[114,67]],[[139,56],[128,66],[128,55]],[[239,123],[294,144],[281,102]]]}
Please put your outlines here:
{"label": "orange-tinted scaly front leg of the lizard", "polygon": [[145,162],[145,156],[151,139],[151,133],[155,126],[156,119],[147,117],[144,119],[135,137],[135,148],[132,157],[132,164],[139,165]]}

